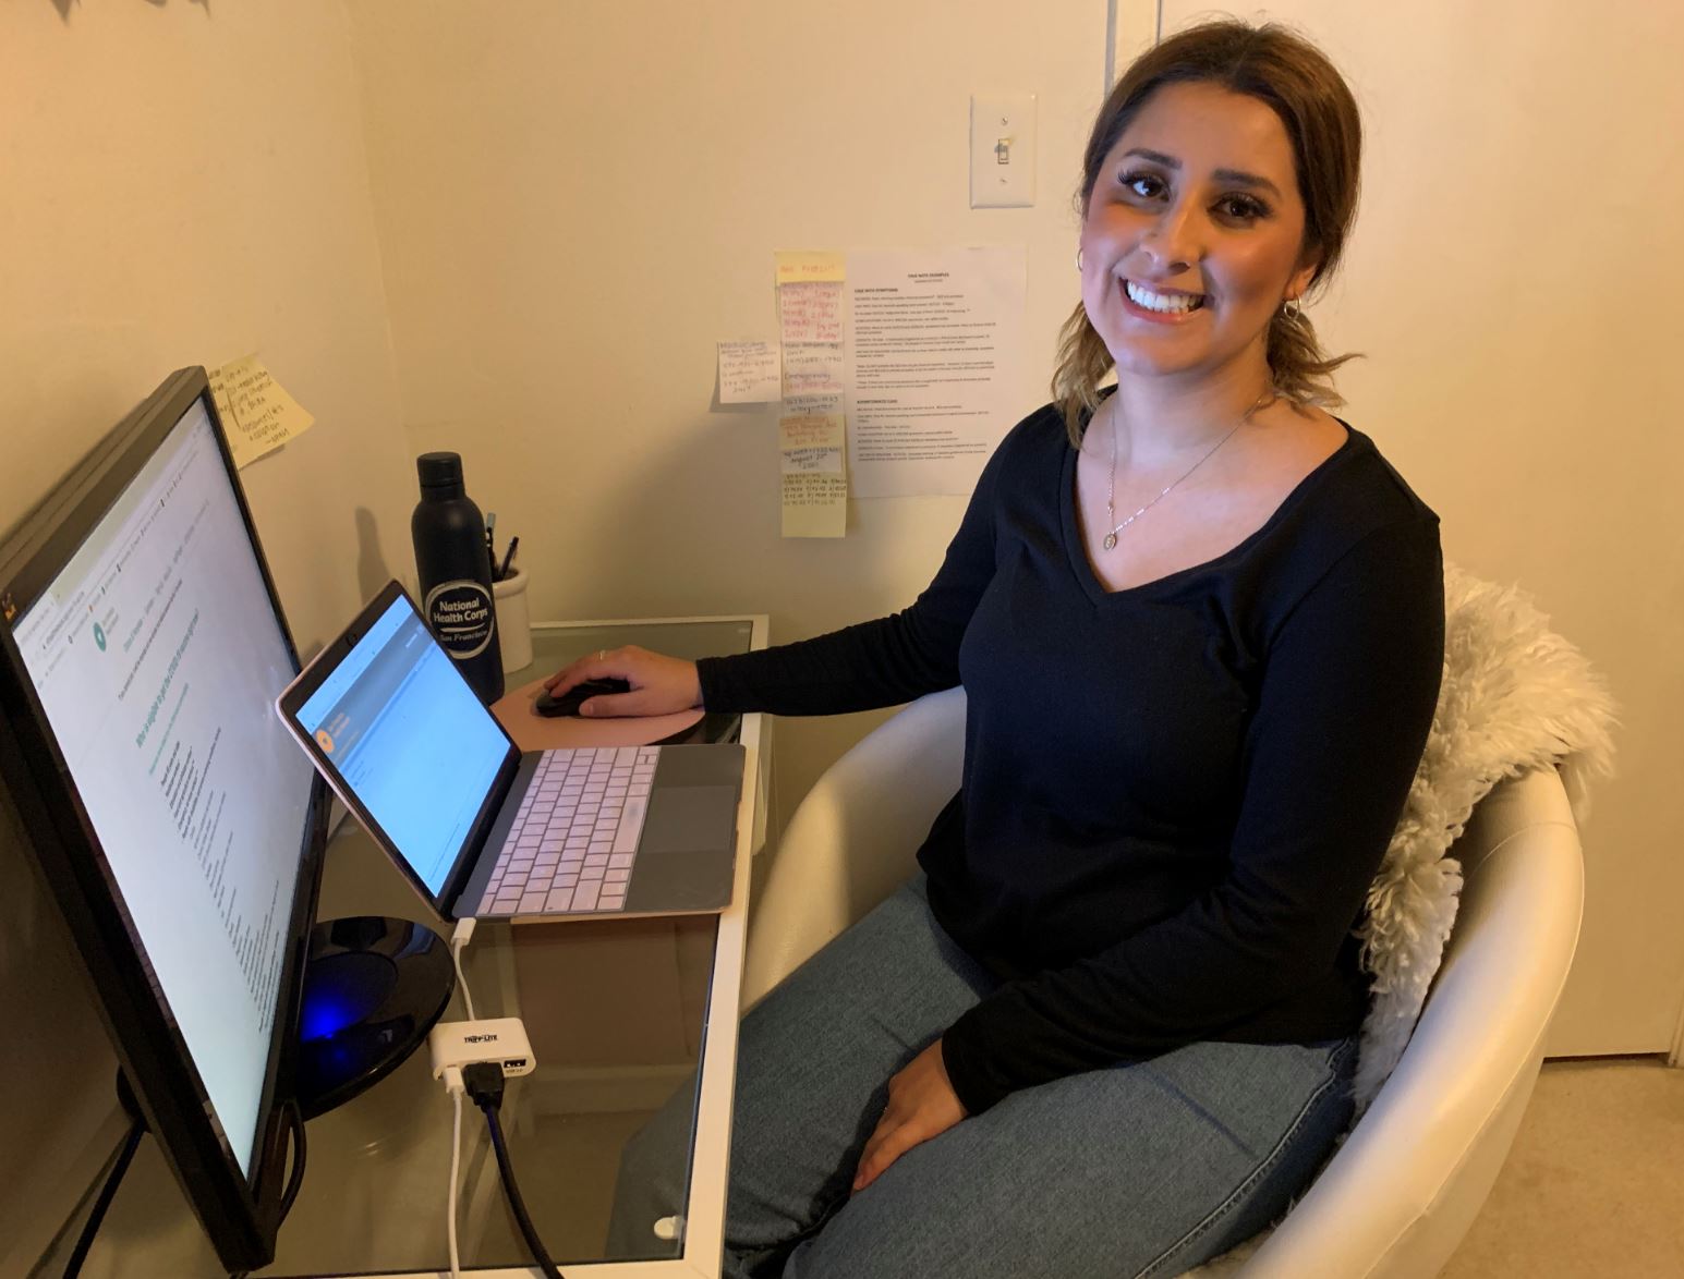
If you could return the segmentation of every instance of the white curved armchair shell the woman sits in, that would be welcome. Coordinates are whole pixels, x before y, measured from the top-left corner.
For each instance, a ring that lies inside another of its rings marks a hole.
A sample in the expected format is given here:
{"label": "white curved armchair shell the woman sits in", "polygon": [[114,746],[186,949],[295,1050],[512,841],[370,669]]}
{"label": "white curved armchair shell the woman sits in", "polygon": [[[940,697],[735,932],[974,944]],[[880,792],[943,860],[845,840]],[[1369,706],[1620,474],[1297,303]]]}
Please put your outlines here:
{"label": "white curved armchair shell the woman sits in", "polygon": [[[925,697],[818,779],[758,899],[746,1003],[911,873],[958,789],[963,725],[963,690]],[[1549,769],[1499,784],[1452,852],[1463,865],[1462,905],[1403,1060],[1266,1242],[1204,1274],[1426,1279],[1467,1234],[1537,1080],[1585,880],[1578,828]]]}

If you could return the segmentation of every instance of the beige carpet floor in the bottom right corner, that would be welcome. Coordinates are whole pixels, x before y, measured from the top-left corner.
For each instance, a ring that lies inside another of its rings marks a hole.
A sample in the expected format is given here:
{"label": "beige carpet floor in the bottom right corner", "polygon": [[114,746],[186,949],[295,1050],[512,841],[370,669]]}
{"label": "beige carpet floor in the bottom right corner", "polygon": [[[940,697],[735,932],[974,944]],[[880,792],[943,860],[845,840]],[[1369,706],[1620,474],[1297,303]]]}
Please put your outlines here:
{"label": "beige carpet floor in the bottom right corner", "polygon": [[1684,1276],[1684,1070],[1546,1062],[1490,1198],[1440,1279]]}

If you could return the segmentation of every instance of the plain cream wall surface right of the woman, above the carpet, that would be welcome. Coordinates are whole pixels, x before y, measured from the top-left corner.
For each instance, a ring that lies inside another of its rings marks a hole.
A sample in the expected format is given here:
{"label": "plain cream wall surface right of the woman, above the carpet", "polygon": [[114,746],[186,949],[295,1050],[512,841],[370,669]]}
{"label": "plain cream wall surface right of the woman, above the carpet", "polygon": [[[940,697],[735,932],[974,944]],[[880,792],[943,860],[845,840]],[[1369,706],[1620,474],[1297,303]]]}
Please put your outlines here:
{"label": "plain cream wall surface right of the woman, above the carpet", "polygon": [[[1206,12],[1170,0],[1164,29]],[[1684,995],[1684,7],[1268,15],[1320,42],[1364,109],[1356,239],[1312,310],[1367,353],[1340,374],[1349,416],[1438,510],[1447,555],[1534,592],[1623,703],[1548,1052],[1662,1052]]]}

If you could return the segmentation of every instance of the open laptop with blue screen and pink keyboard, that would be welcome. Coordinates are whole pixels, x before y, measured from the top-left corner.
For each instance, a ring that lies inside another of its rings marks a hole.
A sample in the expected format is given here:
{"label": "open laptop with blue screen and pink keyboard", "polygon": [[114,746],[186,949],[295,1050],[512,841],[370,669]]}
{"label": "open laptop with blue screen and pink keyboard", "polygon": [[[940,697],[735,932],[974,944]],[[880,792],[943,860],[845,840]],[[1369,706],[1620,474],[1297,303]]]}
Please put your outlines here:
{"label": "open laptop with blue screen and pink keyboard", "polygon": [[731,904],[741,746],[522,754],[397,582],[322,650],[276,710],[445,919]]}

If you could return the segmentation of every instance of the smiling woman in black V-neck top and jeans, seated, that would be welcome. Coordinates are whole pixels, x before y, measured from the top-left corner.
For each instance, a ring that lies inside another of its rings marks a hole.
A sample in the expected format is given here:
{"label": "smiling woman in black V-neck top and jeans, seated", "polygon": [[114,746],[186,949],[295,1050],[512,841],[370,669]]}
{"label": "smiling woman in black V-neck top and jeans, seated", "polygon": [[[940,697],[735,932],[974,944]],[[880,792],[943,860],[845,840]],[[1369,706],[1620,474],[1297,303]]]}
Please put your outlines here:
{"label": "smiling woman in black V-neck top and jeans, seated", "polygon": [[[1165,40],[1088,145],[1058,402],[918,601],[556,677],[626,680],[610,715],[965,687],[921,873],[744,1018],[731,1279],[1174,1276],[1266,1225],[1347,1122],[1352,926],[1443,663],[1438,520],[1319,407],[1339,360],[1298,311],[1357,140],[1292,34]],[[652,1170],[689,1096],[626,1146],[616,1255],[682,1210]]]}

